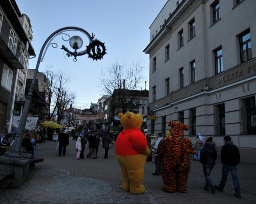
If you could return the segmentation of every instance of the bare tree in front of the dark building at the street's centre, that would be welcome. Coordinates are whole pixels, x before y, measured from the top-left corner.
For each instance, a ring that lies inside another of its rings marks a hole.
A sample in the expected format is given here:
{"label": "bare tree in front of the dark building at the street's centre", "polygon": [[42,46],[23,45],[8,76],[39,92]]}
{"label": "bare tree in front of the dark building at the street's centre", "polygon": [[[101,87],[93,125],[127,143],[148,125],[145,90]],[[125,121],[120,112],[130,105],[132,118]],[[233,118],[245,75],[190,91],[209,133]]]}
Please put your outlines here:
{"label": "bare tree in front of the dark building at the street's centre", "polygon": [[139,101],[138,89],[141,88],[143,77],[142,61],[134,61],[129,67],[116,61],[105,70],[101,70],[98,86],[103,94],[111,95],[110,120],[113,120],[115,110],[121,108],[122,112],[131,111]]}

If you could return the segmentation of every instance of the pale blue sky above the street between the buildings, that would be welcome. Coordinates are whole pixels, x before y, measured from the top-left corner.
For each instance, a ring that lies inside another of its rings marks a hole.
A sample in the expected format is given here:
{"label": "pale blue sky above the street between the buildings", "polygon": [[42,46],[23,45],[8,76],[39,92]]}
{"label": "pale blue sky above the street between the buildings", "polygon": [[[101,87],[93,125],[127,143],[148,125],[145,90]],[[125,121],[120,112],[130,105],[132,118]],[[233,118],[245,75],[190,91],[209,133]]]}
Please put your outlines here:
{"label": "pale blue sky above the street between the buildings", "polygon": [[[102,96],[97,88],[100,71],[111,66],[116,61],[129,66],[134,60],[142,60],[144,76],[147,79],[149,55],[144,54],[144,48],[150,43],[150,25],[155,20],[167,0],[16,0],[20,13],[30,18],[36,58],[29,62],[29,68],[35,69],[40,49],[46,39],[56,30],[63,27],[79,27],[86,30],[94,38],[105,43],[106,55],[102,60],[92,60],[88,55],[68,58],[60,49],[65,45],[70,50],[69,43],[58,35],[52,42],[57,48],[49,47],[39,71],[44,72],[47,66],[55,71],[71,74],[72,82],[69,90],[77,95],[76,108],[87,108],[91,103],[97,103]],[[74,33],[83,39],[83,47],[89,44],[88,38],[80,32]],[[72,35],[71,35],[72,36]],[[67,39],[67,38],[66,38]],[[144,83],[141,85],[144,89]],[[74,106],[73,106],[74,107]]]}

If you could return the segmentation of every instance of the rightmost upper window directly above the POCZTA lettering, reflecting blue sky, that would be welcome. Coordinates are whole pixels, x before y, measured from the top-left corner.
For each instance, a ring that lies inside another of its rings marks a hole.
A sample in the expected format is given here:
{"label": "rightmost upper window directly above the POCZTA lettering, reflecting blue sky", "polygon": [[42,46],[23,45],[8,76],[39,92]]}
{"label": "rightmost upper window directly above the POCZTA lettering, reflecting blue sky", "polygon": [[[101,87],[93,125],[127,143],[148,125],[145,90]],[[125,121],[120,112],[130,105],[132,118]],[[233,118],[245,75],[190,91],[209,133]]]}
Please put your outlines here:
{"label": "rightmost upper window directly above the POCZTA lettering, reflecting blue sky", "polygon": [[251,59],[251,34],[250,31],[246,32],[239,37],[240,41],[240,56],[241,63]]}

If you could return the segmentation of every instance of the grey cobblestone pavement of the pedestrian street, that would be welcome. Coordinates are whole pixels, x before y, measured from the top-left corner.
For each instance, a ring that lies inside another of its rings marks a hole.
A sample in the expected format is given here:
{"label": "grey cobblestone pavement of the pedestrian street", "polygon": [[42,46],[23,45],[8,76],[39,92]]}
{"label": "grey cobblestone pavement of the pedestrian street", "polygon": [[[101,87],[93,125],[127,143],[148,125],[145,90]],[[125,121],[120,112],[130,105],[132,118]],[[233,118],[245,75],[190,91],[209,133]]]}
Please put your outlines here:
{"label": "grey cobblestone pavement of the pedestrian street", "polygon": [[[256,203],[256,166],[241,163],[238,167],[242,199],[233,196],[231,175],[228,176],[224,192],[211,194],[203,189],[202,165],[193,161],[189,172],[186,193],[166,193],[162,191],[161,175],[153,176],[154,162],[146,162],[144,168],[145,193],[131,194],[122,190],[122,177],[115,157],[115,150],[109,150],[109,158],[104,159],[102,146],[98,159],[76,160],[75,141],[70,138],[66,156],[58,156],[56,141],[37,144],[36,157],[44,162],[35,164],[25,185],[20,189],[0,189],[0,203]],[[84,156],[89,152],[88,146]],[[212,170],[211,178],[218,185],[221,179],[222,164]]]}

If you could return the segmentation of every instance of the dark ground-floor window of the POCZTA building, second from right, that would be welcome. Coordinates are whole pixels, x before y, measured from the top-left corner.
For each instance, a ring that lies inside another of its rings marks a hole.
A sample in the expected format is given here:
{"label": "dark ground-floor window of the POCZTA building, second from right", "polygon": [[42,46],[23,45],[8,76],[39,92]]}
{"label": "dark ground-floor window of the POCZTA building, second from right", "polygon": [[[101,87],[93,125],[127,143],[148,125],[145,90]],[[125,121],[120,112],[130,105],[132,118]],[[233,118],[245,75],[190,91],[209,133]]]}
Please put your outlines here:
{"label": "dark ground-floor window of the POCZTA building, second from right", "polygon": [[215,106],[215,135],[226,135],[225,104]]}

